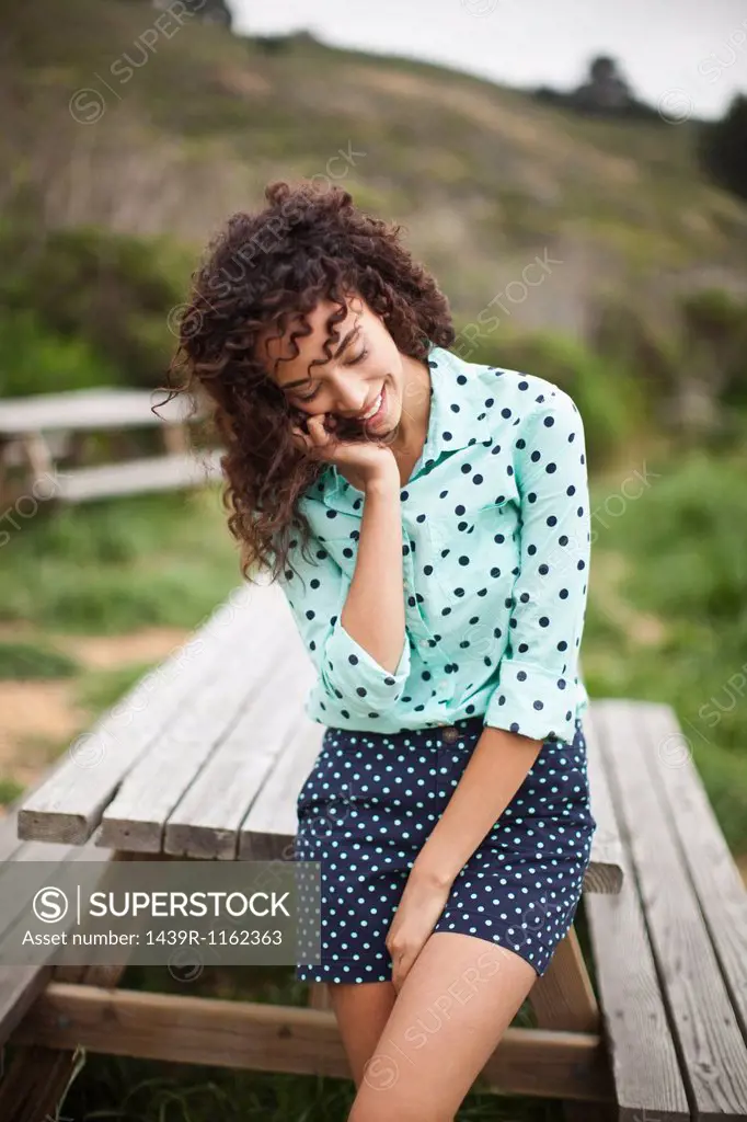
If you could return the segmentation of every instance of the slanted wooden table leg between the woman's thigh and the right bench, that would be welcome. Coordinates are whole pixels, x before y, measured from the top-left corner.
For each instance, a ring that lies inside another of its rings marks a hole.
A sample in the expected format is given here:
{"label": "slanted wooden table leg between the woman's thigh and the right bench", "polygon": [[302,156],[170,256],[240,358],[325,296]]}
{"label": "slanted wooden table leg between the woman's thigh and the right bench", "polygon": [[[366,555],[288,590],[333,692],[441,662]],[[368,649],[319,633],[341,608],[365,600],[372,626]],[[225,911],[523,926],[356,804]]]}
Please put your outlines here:
{"label": "slanted wooden table leg between the woman's thigh and the right bench", "polygon": [[[543,977],[529,991],[529,1004],[540,1029],[599,1032],[601,1018],[575,928],[559,942]],[[615,1107],[605,1103],[563,1104],[566,1122],[611,1122]]]}

